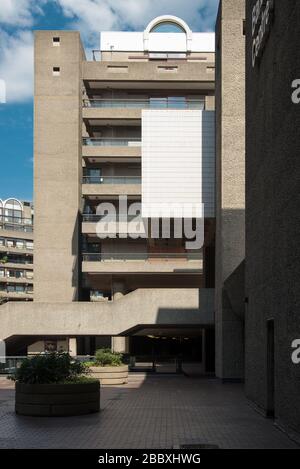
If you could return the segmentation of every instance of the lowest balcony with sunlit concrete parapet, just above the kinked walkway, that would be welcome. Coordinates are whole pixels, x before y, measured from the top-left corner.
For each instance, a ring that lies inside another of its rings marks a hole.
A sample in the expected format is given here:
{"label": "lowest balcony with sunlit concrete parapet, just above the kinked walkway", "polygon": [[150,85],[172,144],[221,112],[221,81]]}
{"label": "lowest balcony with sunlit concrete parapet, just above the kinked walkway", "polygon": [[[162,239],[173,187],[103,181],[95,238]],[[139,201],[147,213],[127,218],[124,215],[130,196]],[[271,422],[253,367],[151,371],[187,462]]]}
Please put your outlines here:
{"label": "lowest balcony with sunlit concrete parapet, just above the kinked walkway", "polygon": [[201,274],[202,253],[84,253],[84,273],[195,273]]}

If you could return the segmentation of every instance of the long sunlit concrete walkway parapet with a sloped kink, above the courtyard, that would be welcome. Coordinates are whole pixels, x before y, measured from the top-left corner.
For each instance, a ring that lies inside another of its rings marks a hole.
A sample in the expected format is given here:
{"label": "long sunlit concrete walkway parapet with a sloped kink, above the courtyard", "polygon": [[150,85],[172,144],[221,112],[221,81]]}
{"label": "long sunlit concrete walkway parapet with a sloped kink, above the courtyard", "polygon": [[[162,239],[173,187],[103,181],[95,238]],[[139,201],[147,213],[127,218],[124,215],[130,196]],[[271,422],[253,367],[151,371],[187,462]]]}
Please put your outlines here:
{"label": "long sunlit concrete walkway parapet with a sloped kink, above the courtyard", "polygon": [[113,302],[6,303],[0,307],[0,339],[120,335],[137,325],[212,325],[213,297],[208,289],[139,289]]}

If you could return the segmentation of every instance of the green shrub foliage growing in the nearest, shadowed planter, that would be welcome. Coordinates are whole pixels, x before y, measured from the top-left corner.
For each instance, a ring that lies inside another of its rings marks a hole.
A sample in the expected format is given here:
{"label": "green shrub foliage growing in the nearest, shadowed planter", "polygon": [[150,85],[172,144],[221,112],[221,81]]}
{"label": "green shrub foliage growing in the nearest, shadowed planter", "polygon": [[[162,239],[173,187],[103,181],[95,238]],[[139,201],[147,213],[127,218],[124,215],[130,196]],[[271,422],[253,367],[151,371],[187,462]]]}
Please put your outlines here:
{"label": "green shrub foliage growing in the nearest, shadowed planter", "polygon": [[87,373],[86,366],[68,353],[53,352],[26,358],[9,379],[24,384],[54,384],[76,382]]}

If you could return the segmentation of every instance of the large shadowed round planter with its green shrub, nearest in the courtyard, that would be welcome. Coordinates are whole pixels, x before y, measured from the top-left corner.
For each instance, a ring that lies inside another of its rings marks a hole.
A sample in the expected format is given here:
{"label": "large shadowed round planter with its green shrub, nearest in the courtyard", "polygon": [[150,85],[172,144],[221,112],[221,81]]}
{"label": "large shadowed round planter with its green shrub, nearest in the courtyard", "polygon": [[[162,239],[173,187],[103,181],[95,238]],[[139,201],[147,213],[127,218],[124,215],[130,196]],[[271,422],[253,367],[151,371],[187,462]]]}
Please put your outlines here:
{"label": "large shadowed round planter with its green shrub, nearest in the courtyard", "polygon": [[99,381],[67,353],[25,359],[16,381],[16,413],[31,416],[83,415],[100,410]]}

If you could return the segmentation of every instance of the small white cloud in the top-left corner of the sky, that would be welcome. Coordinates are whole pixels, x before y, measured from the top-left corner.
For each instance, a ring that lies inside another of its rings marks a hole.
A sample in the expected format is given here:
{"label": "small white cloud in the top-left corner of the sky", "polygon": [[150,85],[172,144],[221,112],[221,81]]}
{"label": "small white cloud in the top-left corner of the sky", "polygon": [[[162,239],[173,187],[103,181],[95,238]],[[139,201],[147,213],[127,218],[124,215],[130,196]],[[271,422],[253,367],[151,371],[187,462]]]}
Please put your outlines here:
{"label": "small white cloud in the top-left corner of the sky", "polygon": [[1,0],[0,24],[28,27],[33,24],[33,15],[42,13],[45,0]]}

